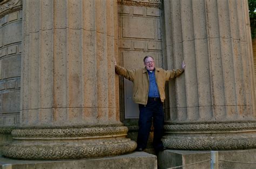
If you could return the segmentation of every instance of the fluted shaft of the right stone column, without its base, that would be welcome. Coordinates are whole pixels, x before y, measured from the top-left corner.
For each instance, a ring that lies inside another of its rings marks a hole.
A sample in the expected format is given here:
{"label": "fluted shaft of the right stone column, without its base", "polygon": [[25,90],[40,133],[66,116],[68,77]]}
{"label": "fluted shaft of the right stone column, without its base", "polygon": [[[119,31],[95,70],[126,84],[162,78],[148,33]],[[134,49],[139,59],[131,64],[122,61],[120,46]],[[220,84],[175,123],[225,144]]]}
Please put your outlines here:
{"label": "fluted shaft of the right stone column, without its base", "polygon": [[187,63],[170,86],[177,115],[167,122],[255,121],[247,8],[247,1],[164,1],[164,67]]}

